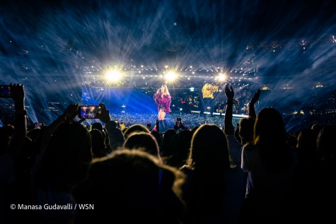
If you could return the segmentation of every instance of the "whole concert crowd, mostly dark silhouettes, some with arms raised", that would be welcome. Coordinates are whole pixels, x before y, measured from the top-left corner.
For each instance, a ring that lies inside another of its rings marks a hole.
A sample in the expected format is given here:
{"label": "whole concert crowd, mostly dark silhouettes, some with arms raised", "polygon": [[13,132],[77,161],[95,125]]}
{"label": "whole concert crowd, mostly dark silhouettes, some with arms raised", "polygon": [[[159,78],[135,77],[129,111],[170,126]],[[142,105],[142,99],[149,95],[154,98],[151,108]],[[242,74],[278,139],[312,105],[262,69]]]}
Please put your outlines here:
{"label": "whole concert crowd, mostly dark silhouettes, some with arms raised", "polygon": [[[25,91],[11,84],[15,123],[0,128],[0,223],[284,223],[335,211],[335,124],[297,136],[272,107],[233,122],[235,90],[224,89],[225,116],[167,117],[160,131],[110,114],[78,119],[71,104],[52,122],[27,127]],[[223,126],[221,121],[224,123]],[[122,128],[122,125],[124,128]],[[189,124],[189,125],[187,125]]]}

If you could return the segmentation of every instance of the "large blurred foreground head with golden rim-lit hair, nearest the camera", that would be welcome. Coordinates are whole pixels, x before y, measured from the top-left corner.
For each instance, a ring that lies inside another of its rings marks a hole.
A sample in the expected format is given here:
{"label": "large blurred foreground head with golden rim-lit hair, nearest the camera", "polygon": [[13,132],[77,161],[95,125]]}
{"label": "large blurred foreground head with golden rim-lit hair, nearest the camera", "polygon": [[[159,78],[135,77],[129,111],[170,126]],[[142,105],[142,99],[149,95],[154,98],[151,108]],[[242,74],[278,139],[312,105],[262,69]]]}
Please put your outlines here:
{"label": "large blurred foreground head with golden rim-lit hair, nearest the camera", "polygon": [[[171,177],[164,185],[161,172]],[[94,204],[94,209],[79,211],[75,223],[168,223],[162,218],[176,219],[176,208],[181,206],[174,190],[180,178],[183,176],[178,176],[178,170],[149,153],[114,151],[93,161],[81,200]]]}

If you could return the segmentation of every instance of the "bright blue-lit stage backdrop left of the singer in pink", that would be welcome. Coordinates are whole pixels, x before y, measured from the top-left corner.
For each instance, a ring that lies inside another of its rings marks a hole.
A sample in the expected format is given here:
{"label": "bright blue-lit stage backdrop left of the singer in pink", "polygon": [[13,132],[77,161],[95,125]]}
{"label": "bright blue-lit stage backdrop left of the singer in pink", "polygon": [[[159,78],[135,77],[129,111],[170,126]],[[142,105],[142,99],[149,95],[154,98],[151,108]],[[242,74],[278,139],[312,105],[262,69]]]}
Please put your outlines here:
{"label": "bright blue-lit stage backdrop left of the singer in pink", "polygon": [[112,113],[156,113],[157,106],[151,95],[134,88],[83,88],[82,105],[105,103]]}

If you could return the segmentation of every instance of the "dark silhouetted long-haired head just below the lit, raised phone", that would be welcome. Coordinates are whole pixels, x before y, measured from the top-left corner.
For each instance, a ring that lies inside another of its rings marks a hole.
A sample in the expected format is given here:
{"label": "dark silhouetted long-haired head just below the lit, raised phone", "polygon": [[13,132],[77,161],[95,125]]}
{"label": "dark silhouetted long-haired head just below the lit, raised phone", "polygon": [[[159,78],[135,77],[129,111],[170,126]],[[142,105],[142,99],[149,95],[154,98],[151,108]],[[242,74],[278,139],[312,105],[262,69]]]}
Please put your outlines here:
{"label": "dark silhouetted long-haired head just below the lit, raised phone", "polygon": [[40,186],[69,191],[86,178],[92,160],[91,136],[81,124],[60,124],[45,148]]}

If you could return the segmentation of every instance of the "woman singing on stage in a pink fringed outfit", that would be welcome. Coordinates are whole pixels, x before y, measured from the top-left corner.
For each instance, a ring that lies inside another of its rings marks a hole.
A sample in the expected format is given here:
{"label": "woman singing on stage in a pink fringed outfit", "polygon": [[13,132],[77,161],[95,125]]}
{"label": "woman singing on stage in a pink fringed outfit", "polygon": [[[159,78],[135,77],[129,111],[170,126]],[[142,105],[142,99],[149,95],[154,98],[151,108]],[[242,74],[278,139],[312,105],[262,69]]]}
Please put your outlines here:
{"label": "woman singing on stage in a pink fringed outfit", "polygon": [[160,127],[160,131],[166,131],[167,122],[165,119],[166,113],[171,112],[170,110],[170,94],[166,85],[162,85],[156,93],[153,95],[153,99],[158,105],[158,122],[163,129]]}

